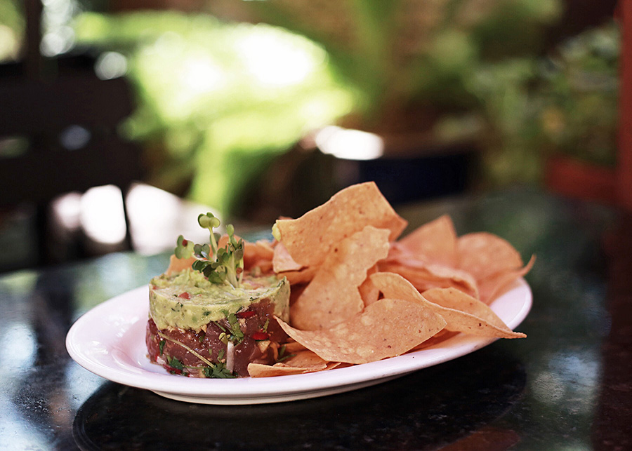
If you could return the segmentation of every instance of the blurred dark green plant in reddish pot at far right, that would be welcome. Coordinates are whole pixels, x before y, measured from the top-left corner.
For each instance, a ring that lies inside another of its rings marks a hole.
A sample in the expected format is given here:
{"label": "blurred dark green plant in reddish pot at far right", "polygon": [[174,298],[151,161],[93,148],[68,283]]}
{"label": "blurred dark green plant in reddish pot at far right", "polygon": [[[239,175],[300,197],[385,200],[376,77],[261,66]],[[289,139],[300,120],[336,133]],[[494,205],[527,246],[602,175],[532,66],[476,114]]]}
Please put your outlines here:
{"label": "blurred dark green plant in reddish pot at far right", "polygon": [[541,71],[541,143],[547,186],[614,202],[619,112],[616,22],[562,43]]}

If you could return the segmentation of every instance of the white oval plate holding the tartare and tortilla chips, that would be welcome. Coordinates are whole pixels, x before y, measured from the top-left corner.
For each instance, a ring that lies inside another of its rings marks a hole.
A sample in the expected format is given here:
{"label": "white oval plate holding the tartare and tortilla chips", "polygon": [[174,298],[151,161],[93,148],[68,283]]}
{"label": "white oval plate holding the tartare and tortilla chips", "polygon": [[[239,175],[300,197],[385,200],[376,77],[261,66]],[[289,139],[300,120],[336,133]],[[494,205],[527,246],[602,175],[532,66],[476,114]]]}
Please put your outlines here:
{"label": "white oval plate holding the tartare and tortilla chips", "polygon": [[[170,375],[147,357],[148,297],[148,288],[143,286],[88,311],[68,331],[68,353],[86,370],[105,379],[192,403],[278,403],[342,393],[450,361],[495,341],[461,333],[403,356],[304,375],[241,379],[182,377]],[[491,307],[514,329],[526,318],[531,305],[531,290],[521,278]]]}

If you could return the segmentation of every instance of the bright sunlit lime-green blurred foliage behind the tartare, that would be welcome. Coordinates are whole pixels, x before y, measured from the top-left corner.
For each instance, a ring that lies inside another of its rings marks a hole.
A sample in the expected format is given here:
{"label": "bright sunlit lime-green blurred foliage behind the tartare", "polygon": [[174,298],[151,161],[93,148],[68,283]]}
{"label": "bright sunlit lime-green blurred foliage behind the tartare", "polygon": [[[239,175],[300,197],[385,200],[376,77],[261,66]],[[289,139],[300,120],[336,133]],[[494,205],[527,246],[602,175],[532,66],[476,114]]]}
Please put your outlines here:
{"label": "bright sunlit lime-green blurred foliage behind the tartare", "polygon": [[277,27],[144,11],[84,13],[74,29],[80,46],[126,55],[138,109],[125,130],[149,182],[227,214],[275,156],[352,107],[327,53]]}

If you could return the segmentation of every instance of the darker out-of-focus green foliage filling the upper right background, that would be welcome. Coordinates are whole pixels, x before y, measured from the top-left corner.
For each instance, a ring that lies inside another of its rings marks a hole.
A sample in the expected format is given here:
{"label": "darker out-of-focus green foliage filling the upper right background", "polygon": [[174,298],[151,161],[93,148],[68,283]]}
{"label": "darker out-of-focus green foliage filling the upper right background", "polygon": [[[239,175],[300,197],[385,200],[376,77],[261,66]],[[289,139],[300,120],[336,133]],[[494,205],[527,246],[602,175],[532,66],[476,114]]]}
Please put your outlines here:
{"label": "darker out-of-focus green foliage filling the upper right background", "polygon": [[538,183],[553,153],[614,162],[614,22],[546,48],[548,27],[567,6],[561,0],[252,4],[271,23],[321,43],[362,92],[351,126],[468,139],[482,151],[483,184]]}

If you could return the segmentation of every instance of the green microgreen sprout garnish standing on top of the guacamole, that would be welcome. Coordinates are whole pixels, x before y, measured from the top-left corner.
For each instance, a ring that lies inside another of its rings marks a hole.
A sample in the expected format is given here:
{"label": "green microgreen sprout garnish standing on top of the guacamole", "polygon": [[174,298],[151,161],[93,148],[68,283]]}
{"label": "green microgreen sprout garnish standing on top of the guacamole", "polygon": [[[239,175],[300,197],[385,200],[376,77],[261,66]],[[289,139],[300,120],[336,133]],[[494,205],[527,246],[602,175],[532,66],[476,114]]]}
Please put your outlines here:
{"label": "green microgreen sprout garnish standing on top of the guacamole", "polygon": [[228,243],[219,248],[220,234],[213,229],[220,226],[220,220],[213,213],[203,213],[197,217],[197,223],[200,227],[209,229],[210,243],[195,244],[180,235],[175,250],[176,257],[195,256],[197,260],[193,262],[192,268],[204,274],[211,283],[225,283],[238,288],[244,272],[244,241],[235,238],[235,227],[228,224]]}

